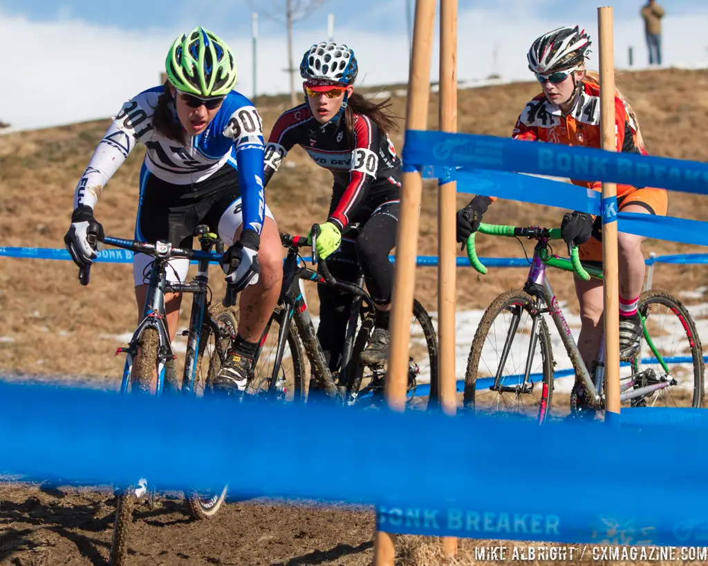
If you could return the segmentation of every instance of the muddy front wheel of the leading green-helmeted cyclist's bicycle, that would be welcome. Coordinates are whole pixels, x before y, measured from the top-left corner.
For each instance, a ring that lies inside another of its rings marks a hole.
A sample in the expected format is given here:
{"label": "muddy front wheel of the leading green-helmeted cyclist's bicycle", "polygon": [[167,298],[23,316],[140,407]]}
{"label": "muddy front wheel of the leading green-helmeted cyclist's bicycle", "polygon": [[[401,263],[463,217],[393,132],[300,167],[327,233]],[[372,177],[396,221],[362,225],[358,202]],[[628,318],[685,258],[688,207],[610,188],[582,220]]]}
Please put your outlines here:
{"label": "muddy front wheel of the leading green-helmeted cyclist's bicycle", "polygon": [[[137,359],[130,374],[130,393],[149,395],[154,372],[157,369],[157,330],[145,328],[138,337]],[[115,492],[115,520],[113,521],[113,541],[110,545],[110,564],[127,564],[128,538],[132,525],[132,514],[137,501],[135,485],[121,487]]]}

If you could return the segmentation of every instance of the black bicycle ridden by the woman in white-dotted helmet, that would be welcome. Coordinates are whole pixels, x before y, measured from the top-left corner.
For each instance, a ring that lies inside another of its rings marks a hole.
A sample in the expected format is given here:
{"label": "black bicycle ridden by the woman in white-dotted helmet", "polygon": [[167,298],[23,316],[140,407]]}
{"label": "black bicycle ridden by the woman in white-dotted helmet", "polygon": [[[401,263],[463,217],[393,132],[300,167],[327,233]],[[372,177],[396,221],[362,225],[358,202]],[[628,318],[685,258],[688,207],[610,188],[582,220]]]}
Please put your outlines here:
{"label": "black bicycle ridden by the woman in white-dotted helmet", "polygon": [[[349,237],[354,238],[357,226],[348,231]],[[267,393],[266,396],[275,395],[282,398],[282,387],[278,384],[292,383],[294,391],[292,399],[304,402],[306,398],[305,385],[305,354],[311,366],[311,379],[309,385],[316,383],[316,388],[321,390],[324,398],[329,398],[342,405],[355,405],[367,400],[369,405],[376,405],[382,400],[384,391],[384,366],[365,366],[360,362],[360,353],[367,346],[374,328],[374,306],[371,297],[362,288],[364,276],[359,269],[355,282],[338,281],[332,277],[325,260],[317,259],[316,238],[319,235],[319,225],[312,226],[312,243],[302,236],[290,236],[280,233],[280,241],[287,249],[287,257],[283,264],[283,282],[275,308],[268,326],[265,328],[258,357],[273,358],[273,369],[265,377],[268,392],[256,379],[256,385],[251,386],[254,391]],[[316,263],[319,272],[305,267],[304,260],[299,256],[299,248],[309,247],[312,250],[312,263]],[[316,284],[336,287],[340,291],[354,295],[350,308],[349,319],[344,338],[343,357],[341,369],[334,374],[329,370],[324,352],[317,340],[316,331],[309,315],[307,304],[304,301],[301,281],[313,281]],[[433,405],[438,399],[438,341],[435,328],[430,316],[417,301],[413,301],[413,322],[420,328],[412,334],[411,356],[409,357],[409,383],[408,398],[411,408],[427,408],[428,401]],[[293,324],[294,322],[294,324]],[[273,325],[278,325],[277,337],[268,341],[272,334]],[[292,376],[286,377],[281,373],[282,359],[285,346],[290,349],[292,357]],[[272,348],[274,355],[265,355],[264,352]],[[429,381],[428,383],[423,383]],[[365,383],[365,387],[362,387]],[[314,388],[308,388],[307,398]],[[433,405],[430,405],[432,408]]]}

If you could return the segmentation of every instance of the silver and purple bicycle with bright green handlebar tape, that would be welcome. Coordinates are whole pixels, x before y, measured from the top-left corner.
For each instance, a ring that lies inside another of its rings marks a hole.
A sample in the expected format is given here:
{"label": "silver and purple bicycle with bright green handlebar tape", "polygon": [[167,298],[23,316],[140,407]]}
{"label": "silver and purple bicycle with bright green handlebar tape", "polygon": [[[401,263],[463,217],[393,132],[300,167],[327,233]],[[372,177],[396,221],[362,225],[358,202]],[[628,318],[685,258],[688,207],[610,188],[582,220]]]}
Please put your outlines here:
{"label": "silver and purple bicycle with bright green handlebar tape", "polygon": [[[568,355],[572,371],[585,390],[590,411],[584,415],[594,415],[605,408],[604,381],[604,335],[600,340],[598,359],[593,369],[593,378],[578,352],[578,347],[566,321],[561,306],[547,278],[546,268],[556,267],[573,271],[581,279],[590,277],[602,279],[603,272],[581,262],[578,249],[571,249],[571,258],[561,258],[549,252],[549,241],[561,239],[560,229],[528,226],[502,226],[480,224],[479,232],[494,236],[526,237],[537,241],[530,270],[523,289],[511,289],[499,295],[486,309],[474,335],[467,360],[464,383],[464,407],[476,412],[501,412],[504,409],[527,416],[539,423],[549,418],[554,394],[554,354],[544,315],[549,314],[561,337]],[[487,270],[479,261],[475,249],[475,234],[467,240],[467,256],[472,267],[482,275]],[[662,316],[662,309],[666,313]],[[655,406],[671,401],[701,407],[704,389],[704,359],[695,323],[678,299],[666,291],[644,291],[639,299],[643,337],[640,353],[629,362],[622,362],[623,375],[620,376],[620,401],[632,407]],[[497,334],[493,332],[498,318],[510,319],[506,332],[501,333],[503,347],[497,362],[488,363],[498,350]],[[530,330],[520,322],[530,318]],[[666,322],[673,315],[673,330],[685,338],[683,350],[664,345],[665,328],[657,323]],[[492,331],[490,334],[490,330]],[[490,336],[492,339],[490,340]],[[519,344],[520,356],[515,357],[514,342]],[[661,341],[661,343],[660,343]],[[537,348],[538,347],[538,348]],[[685,350],[685,351],[684,351]],[[646,355],[649,352],[649,356]],[[536,354],[540,357],[537,359]],[[690,355],[686,355],[690,354]],[[517,362],[518,359],[518,362]],[[485,366],[480,369],[480,363]],[[672,367],[669,364],[675,364]],[[688,369],[687,364],[692,364]],[[510,373],[504,374],[507,366]],[[561,374],[562,372],[559,372]],[[556,376],[557,377],[557,376]],[[539,382],[540,381],[540,387]],[[575,388],[570,395],[571,414],[578,415],[578,399]]]}

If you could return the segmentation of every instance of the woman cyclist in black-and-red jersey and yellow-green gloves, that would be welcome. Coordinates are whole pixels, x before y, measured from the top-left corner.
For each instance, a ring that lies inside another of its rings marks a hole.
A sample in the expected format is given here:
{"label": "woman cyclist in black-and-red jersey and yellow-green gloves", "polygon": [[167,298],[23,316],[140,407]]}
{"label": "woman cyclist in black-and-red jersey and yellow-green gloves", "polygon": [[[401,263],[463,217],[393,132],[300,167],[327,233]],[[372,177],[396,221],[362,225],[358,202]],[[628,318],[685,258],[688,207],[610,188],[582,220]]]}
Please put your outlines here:
{"label": "woman cyclist in black-and-red jersey and yellow-green gloves", "polygon": [[[327,221],[321,224],[317,253],[328,258],[332,275],[355,278],[362,266],[367,289],[376,304],[375,330],[365,364],[382,364],[388,355],[389,311],[393,266],[389,252],[396,245],[401,161],[388,132],[396,129],[388,100],[370,103],[353,93],[358,64],[346,45],[319,43],[300,63],[305,102],[275,122],[265,145],[265,183],[278,171],[288,151],[302,146],[334,177]],[[359,224],[355,240],[342,238],[350,224]],[[320,285],[317,335],[332,371],[341,363],[351,295]]]}

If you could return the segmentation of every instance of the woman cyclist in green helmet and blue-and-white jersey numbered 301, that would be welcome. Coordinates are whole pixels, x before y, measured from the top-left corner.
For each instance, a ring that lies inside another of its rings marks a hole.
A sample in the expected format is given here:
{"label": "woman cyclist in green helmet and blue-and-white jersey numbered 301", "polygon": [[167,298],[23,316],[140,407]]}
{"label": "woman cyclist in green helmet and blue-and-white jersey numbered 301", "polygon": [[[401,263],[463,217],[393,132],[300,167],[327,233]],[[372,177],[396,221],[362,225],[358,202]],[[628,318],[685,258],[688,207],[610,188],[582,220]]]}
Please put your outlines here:
{"label": "woman cyclist in green helmet and blue-and-white jersey numbered 301", "polygon": [[[233,90],[234,54],[213,33],[195,28],[176,38],[166,58],[167,81],[128,100],[89,161],[74,195],[72,224],[64,236],[79,267],[96,251],[86,229],[103,187],[138,141],[147,148],[140,171],[135,238],[192,247],[198,224],[208,224],[239,258],[226,279],[240,298],[239,331],[215,388],[243,389],[253,371],[265,325],[278,303],[282,246],[263,191],[263,129],[253,104]],[[96,223],[98,224],[98,223]],[[103,229],[99,224],[99,231]],[[147,294],[152,258],[135,254],[133,279],[139,316]],[[184,281],[189,260],[170,260],[168,279]],[[224,264],[226,265],[226,264]],[[182,296],[165,295],[170,340]]]}

